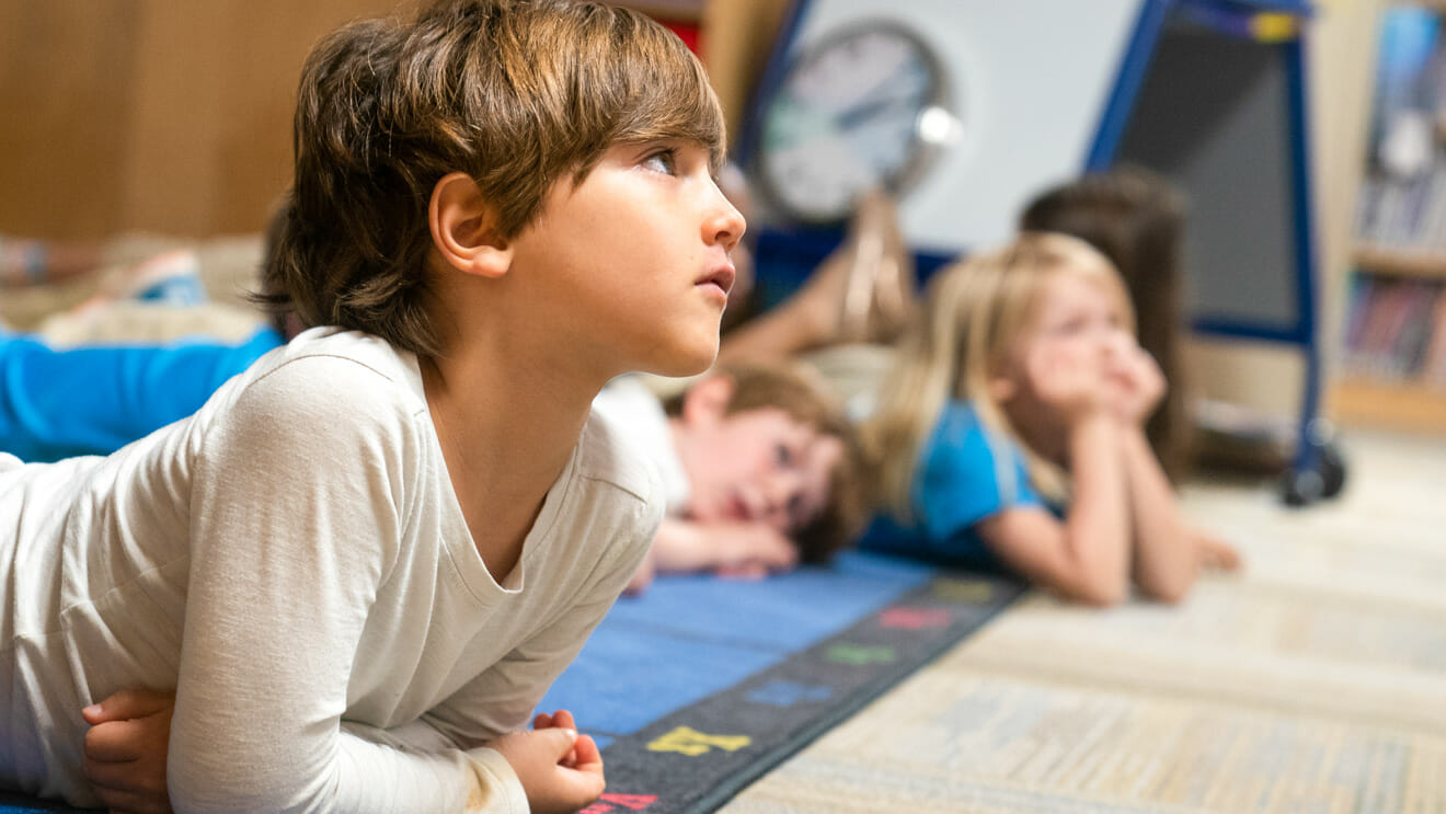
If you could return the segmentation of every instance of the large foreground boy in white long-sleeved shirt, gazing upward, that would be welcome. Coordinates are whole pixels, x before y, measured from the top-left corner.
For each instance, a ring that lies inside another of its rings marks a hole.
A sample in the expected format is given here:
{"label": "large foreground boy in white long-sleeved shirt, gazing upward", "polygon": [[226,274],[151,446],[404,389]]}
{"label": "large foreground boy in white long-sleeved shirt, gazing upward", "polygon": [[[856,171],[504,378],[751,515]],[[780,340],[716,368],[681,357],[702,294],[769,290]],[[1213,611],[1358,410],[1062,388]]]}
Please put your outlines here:
{"label": "large foreground boy in white long-sleeved shirt, gazing upward", "polygon": [[[665,510],[591,399],[717,353],[717,100],[641,13],[453,0],[322,39],[296,108],[269,289],[333,327],[110,457],[0,454],[0,788],[576,811],[596,745],[525,727]],[[175,694],[159,771],[127,688]]]}

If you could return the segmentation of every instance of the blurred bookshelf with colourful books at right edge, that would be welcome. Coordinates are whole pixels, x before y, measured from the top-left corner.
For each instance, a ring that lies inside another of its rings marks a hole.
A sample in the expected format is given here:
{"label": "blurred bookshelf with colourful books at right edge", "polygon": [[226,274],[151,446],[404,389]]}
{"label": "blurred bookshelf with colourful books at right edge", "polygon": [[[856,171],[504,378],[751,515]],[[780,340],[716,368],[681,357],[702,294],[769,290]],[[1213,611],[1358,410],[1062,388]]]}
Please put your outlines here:
{"label": "blurred bookshelf with colourful books at right edge", "polygon": [[1387,9],[1330,412],[1446,434],[1446,0]]}

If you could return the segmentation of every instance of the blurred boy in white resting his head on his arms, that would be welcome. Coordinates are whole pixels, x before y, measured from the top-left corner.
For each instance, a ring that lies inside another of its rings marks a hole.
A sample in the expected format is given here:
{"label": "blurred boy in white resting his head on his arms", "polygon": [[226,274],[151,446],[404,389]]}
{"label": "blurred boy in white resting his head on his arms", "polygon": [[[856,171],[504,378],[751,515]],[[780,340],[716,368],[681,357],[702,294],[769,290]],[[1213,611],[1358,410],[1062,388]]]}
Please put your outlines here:
{"label": "blurred boy in white resting his head on his arms", "polygon": [[853,427],[801,367],[714,367],[667,403],[623,377],[593,408],[658,466],[665,486],[668,513],[632,593],[655,573],[762,577],[823,562],[859,529]]}

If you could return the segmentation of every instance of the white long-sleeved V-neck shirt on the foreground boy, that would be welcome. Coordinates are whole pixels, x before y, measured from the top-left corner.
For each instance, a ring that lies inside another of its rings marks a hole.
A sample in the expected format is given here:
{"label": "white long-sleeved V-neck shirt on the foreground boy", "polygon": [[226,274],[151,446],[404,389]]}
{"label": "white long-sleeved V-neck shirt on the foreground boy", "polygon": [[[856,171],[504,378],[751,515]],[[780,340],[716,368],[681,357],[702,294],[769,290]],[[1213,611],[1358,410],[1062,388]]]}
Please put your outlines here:
{"label": "white long-sleeved V-neck shirt on the foreground boy", "polygon": [[596,416],[505,584],[411,354],[314,330],[106,458],[0,461],[0,788],[94,805],[80,710],[176,688],[178,811],[526,811],[526,724],[643,557],[652,470]]}

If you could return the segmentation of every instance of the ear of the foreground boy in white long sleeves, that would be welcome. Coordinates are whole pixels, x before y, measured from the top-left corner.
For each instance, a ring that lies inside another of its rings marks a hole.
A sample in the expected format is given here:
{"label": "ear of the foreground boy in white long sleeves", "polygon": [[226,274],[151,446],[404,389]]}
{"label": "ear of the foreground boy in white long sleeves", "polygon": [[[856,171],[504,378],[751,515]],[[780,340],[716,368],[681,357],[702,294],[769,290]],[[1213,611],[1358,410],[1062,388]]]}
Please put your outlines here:
{"label": "ear of the foreground boy in white long sleeves", "polygon": [[457,270],[500,278],[512,267],[512,243],[497,234],[497,213],[466,172],[444,175],[427,208],[432,244]]}

